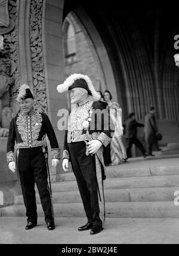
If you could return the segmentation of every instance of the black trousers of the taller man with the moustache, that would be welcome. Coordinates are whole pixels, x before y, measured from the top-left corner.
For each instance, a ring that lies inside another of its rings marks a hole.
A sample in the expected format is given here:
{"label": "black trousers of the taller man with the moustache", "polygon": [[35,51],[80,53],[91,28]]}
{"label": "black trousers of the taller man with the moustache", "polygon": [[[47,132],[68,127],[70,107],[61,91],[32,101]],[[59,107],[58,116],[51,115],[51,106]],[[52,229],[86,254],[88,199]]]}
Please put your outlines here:
{"label": "black trousers of the taller man with the moustache", "polygon": [[[88,222],[102,226],[98,198],[98,182],[95,171],[95,156],[86,156],[84,141],[68,143],[72,169],[78,183]],[[102,196],[102,195],[101,195]]]}

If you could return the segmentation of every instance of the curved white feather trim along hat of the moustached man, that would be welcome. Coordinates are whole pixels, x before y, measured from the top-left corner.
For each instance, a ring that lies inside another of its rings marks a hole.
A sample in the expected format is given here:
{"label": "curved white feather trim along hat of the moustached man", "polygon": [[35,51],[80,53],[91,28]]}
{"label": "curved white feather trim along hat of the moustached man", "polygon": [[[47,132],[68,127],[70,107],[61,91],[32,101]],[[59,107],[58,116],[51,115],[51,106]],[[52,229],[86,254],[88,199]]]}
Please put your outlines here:
{"label": "curved white feather trim along hat of the moustached man", "polygon": [[70,91],[73,88],[83,88],[87,90],[88,95],[91,95],[94,101],[100,100],[100,94],[95,91],[90,78],[83,74],[72,74],[62,83],[57,86],[57,91],[62,93]]}

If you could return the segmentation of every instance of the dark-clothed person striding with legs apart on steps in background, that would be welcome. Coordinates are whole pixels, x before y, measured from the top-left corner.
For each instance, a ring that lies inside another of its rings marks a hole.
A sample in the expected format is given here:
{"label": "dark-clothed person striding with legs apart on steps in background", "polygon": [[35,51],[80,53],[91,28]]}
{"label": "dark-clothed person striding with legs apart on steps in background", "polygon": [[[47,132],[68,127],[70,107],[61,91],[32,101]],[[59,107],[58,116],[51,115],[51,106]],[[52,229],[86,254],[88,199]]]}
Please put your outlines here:
{"label": "dark-clothed person striding with legs apart on steps in background", "polygon": [[143,144],[137,138],[137,127],[144,127],[143,124],[138,123],[135,120],[135,113],[130,113],[128,120],[124,124],[125,129],[125,139],[126,139],[126,154],[128,158],[131,158],[131,147],[132,144],[138,147],[141,150],[144,157],[147,156],[146,149],[144,149]]}

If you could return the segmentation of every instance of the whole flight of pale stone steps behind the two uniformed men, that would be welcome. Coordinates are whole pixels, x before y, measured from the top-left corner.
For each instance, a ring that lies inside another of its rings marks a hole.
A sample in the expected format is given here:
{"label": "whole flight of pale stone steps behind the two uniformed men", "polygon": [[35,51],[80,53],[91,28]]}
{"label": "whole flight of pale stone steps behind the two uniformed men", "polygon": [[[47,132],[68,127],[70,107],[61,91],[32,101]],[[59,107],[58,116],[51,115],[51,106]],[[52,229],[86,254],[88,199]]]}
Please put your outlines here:
{"label": "whole flight of pale stone steps behind the two uniformed men", "polygon": [[[148,160],[129,159],[126,164],[107,167],[106,218],[179,217],[179,206],[174,204],[174,192],[179,191],[179,158]],[[59,175],[61,181],[52,183],[54,215],[84,217],[74,174]],[[44,216],[38,192],[36,202],[38,216]],[[0,213],[1,216],[26,216],[22,196],[14,198],[14,205],[0,208]]]}

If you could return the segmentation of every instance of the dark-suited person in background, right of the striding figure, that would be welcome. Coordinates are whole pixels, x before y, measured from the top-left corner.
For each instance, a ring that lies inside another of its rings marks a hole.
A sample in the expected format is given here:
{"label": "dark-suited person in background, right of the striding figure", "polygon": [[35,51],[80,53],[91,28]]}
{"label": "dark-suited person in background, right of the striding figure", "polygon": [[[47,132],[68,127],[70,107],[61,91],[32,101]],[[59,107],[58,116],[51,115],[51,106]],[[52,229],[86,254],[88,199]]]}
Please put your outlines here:
{"label": "dark-suited person in background, right of the striding figure", "polygon": [[147,144],[147,153],[150,156],[152,154],[152,146],[156,144],[156,134],[158,133],[158,127],[155,119],[155,107],[150,107],[150,112],[145,116],[145,128],[144,136]]}

